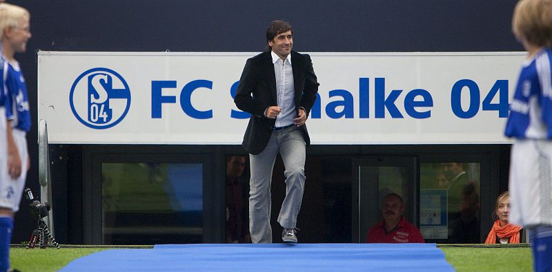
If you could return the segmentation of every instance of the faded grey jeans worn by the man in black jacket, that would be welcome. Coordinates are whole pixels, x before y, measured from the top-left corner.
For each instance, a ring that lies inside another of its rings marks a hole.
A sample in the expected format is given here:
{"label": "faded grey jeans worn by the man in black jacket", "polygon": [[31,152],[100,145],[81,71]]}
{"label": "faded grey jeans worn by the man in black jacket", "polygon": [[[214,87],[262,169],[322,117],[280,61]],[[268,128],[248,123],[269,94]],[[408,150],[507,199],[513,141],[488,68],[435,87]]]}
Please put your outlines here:
{"label": "faded grey jeans worn by the man in black jacket", "polygon": [[293,229],[301,208],[305,187],[305,140],[295,126],[273,132],[265,149],[258,155],[249,154],[251,179],[249,191],[249,231],[253,243],[272,242],[270,227],[270,185],[276,155],[284,161],[286,198],[278,222],[284,229]]}

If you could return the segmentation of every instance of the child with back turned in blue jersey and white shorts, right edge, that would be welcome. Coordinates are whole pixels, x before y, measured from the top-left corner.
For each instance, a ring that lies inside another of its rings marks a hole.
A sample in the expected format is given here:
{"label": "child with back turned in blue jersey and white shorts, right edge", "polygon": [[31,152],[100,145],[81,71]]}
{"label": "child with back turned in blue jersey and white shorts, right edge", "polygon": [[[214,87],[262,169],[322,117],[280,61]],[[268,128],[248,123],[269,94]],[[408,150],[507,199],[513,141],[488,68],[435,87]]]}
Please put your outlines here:
{"label": "child with back turned in blue jersey and white shorts, right edge", "polygon": [[509,221],[529,229],[535,271],[552,271],[552,23],[550,0],[522,0],[512,30],[528,52],[506,123],[515,138]]}

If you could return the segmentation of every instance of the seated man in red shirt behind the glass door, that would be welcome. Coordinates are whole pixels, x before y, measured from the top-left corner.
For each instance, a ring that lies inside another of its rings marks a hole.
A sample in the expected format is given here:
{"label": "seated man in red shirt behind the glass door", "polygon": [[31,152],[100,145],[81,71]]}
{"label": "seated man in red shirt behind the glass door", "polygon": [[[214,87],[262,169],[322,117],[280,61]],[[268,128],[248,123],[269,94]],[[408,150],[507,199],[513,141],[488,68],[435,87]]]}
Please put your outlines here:
{"label": "seated man in red shirt behind the glass door", "polygon": [[410,222],[402,217],[404,202],[396,193],[385,196],[382,204],[384,220],[368,229],[366,242],[368,243],[422,243],[422,233]]}

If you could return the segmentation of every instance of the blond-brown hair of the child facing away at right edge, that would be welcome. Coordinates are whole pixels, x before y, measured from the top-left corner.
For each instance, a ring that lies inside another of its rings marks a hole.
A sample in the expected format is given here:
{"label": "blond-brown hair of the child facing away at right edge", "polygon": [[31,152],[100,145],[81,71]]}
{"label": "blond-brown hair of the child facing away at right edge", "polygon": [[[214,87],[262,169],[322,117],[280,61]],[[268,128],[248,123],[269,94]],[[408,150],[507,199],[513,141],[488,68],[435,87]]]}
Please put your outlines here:
{"label": "blond-brown hair of the child facing away at right edge", "polygon": [[512,32],[519,41],[537,46],[552,44],[550,0],[521,0],[515,5]]}

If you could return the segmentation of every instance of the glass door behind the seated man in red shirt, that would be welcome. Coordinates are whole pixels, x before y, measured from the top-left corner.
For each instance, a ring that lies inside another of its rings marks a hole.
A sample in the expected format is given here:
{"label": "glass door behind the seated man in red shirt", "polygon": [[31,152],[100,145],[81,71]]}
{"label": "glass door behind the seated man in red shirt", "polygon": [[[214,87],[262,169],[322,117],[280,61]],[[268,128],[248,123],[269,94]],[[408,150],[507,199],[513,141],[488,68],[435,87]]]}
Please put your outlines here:
{"label": "glass door behind the seated man in red shirt", "polygon": [[418,165],[414,156],[370,156],[353,160],[353,242],[365,242],[368,229],[382,220],[382,200],[396,193],[403,216],[417,226]]}

